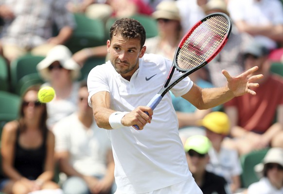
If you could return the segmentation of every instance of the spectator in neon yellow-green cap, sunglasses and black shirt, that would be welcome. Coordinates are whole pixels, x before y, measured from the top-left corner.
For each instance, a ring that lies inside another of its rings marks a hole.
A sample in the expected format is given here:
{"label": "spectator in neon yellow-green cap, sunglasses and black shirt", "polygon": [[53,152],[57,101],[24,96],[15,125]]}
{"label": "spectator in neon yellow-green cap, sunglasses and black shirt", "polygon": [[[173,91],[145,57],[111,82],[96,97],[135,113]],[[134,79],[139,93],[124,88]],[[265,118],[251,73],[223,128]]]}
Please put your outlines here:
{"label": "spectator in neon yellow-green cap, sunglasses and black shirt", "polygon": [[223,177],[206,170],[211,146],[211,141],[203,135],[194,135],[187,139],[184,149],[189,169],[203,194],[231,194],[229,185]]}

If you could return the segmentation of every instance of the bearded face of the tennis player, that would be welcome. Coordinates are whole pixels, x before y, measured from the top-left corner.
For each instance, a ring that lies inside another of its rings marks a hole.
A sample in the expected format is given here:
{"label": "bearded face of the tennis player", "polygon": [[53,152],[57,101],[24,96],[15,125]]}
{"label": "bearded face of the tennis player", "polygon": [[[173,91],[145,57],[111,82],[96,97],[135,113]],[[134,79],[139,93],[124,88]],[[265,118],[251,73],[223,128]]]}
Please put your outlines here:
{"label": "bearded face of the tennis player", "polygon": [[125,79],[130,79],[139,68],[139,58],[145,53],[146,47],[141,48],[139,39],[125,39],[121,34],[116,34],[111,41],[107,41],[107,51],[111,64]]}

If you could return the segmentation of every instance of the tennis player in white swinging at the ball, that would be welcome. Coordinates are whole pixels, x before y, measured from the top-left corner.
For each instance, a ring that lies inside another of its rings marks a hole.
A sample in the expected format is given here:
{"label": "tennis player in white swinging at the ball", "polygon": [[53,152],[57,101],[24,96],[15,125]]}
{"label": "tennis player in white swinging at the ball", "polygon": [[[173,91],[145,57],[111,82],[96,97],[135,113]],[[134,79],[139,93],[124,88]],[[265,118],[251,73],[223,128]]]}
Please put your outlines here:
{"label": "tennis player in white swinging at the ball", "polygon": [[[145,54],[144,42],[145,30],[137,20],[117,20],[107,40],[110,60],[88,75],[88,103],[97,125],[112,129],[107,132],[115,161],[115,194],[202,194],[188,169],[170,94],[154,112],[145,106],[163,86],[172,62]],[[208,109],[235,96],[256,95],[251,88],[263,77],[250,76],[256,70],[237,77],[223,70],[228,83],[222,88],[201,89],[187,77],[171,91],[198,109]],[[172,80],[178,76],[175,71]]]}

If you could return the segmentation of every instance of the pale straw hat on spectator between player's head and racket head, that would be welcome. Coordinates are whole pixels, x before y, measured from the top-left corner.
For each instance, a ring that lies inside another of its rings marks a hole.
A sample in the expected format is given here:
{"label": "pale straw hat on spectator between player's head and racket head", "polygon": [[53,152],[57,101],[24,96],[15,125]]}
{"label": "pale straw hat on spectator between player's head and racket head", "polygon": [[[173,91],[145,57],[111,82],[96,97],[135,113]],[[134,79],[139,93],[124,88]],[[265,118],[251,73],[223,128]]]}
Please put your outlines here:
{"label": "pale straw hat on spectator between player's head and racket head", "polygon": [[175,1],[161,1],[156,7],[156,11],[152,13],[152,16],[155,19],[181,20],[179,9]]}

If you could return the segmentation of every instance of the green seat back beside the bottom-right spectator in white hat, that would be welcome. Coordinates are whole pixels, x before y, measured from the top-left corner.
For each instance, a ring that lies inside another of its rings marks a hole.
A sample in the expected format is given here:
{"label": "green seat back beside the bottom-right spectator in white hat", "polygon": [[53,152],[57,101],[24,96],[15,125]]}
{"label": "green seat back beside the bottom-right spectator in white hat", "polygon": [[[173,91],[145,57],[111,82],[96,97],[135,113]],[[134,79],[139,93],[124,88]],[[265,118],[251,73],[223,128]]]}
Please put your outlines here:
{"label": "green seat back beside the bottom-right spectator in white hat", "polygon": [[259,177],[254,171],[254,166],[262,162],[268,149],[262,149],[258,151],[252,151],[246,155],[240,157],[243,173],[241,175],[242,187],[248,188],[248,186],[259,180]]}

